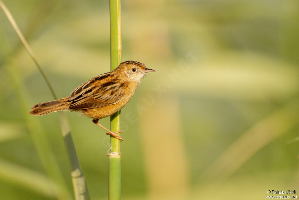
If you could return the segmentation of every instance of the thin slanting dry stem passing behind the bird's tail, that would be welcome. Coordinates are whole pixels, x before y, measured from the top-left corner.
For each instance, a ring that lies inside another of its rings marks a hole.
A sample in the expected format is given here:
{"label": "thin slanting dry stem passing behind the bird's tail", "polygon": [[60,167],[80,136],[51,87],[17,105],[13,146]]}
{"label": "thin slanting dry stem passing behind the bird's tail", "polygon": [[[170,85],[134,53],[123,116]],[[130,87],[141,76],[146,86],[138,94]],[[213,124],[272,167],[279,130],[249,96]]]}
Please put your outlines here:
{"label": "thin slanting dry stem passing behind the bird's tail", "polygon": [[[48,87],[51,90],[51,93],[54,97],[54,99],[58,99],[57,95],[55,94],[55,91],[53,87],[51,86],[47,76],[45,75],[44,71],[42,70],[41,65],[36,59],[36,56],[34,55],[33,51],[31,50],[28,42],[26,41],[25,37],[23,36],[21,30],[19,29],[18,25],[16,24],[16,21],[14,20],[13,16],[11,15],[10,11],[8,8],[4,5],[4,3],[0,0],[0,7],[4,11],[5,15],[7,16],[8,20],[10,21],[11,25],[13,26],[14,30],[18,34],[20,40],[22,41],[23,45],[25,46],[26,50],[28,51],[29,55],[33,59],[34,63],[38,67],[39,71],[42,73],[43,78],[45,79]],[[28,115],[28,114],[27,114]],[[72,177],[72,182],[73,182],[73,187],[74,187],[74,195],[75,199],[83,199],[83,200],[88,200],[89,198],[89,193],[87,190],[87,185],[86,181],[83,175],[83,172],[80,167],[79,159],[77,156],[77,152],[74,146],[73,138],[71,136],[71,128],[68,124],[68,120],[65,117],[63,113],[59,114],[60,117],[60,124],[61,124],[61,129],[62,129],[62,136],[63,136],[63,141],[64,145],[66,148],[66,152],[68,154],[69,162],[71,165],[71,177]]]}

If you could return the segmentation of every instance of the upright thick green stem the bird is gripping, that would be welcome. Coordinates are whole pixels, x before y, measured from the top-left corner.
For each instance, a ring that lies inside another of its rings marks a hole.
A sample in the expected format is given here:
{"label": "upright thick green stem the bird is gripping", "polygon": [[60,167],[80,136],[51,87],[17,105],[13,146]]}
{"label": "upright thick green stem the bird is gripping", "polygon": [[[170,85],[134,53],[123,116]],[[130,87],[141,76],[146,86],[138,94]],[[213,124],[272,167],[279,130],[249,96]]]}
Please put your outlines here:
{"label": "upright thick green stem the bird is gripping", "polygon": [[[110,63],[114,70],[121,59],[120,0],[110,0]],[[110,117],[110,130],[119,130],[120,111]],[[120,199],[120,140],[110,136],[109,199]]]}

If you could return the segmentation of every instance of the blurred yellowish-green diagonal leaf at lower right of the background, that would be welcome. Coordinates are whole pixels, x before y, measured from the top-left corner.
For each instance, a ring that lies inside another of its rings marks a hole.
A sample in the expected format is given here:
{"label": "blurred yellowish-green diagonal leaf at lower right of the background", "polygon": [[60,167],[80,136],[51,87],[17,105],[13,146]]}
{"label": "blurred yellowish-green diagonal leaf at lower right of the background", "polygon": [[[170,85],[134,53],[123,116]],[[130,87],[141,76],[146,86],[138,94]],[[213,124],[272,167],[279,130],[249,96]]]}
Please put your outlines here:
{"label": "blurred yellowish-green diagonal leaf at lower right of the background", "polygon": [[205,180],[223,181],[252,155],[299,123],[299,99],[266,116],[231,144],[203,174]]}

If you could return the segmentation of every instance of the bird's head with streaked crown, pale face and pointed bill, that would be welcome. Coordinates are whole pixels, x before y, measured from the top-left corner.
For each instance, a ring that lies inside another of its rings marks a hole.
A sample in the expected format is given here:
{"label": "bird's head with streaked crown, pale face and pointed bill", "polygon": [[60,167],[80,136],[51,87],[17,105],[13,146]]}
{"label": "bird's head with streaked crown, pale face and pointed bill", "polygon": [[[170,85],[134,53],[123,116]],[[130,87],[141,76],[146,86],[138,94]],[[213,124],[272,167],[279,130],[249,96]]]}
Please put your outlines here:
{"label": "bird's head with streaked crown, pale face and pointed bill", "polygon": [[143,63],[137,61],[122,62],[114,71],[120,76],[123,75],[127,80],[138,83],[141,82],[141,79],[148,72],[156,72],[155,70],[146,68]]}

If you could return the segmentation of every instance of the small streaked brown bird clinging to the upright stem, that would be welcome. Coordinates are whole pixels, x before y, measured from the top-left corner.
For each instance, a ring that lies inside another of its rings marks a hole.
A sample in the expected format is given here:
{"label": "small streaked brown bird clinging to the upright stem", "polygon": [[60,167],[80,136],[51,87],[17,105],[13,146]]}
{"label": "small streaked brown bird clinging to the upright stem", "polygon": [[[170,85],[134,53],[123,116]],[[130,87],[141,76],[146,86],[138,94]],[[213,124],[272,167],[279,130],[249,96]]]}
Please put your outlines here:
{"label": "small streaked brown bird clinging to the upright stem", "polygon": [[122,130],[111,132],[98,121],[125,106],[148,72],[155,70],[148,69],[137,61],[122,62],[115,70],[82,83],[68,97],[32,106],[29,114],[38,116],[60,110],[82,111],[82,115],[93,118],[94,124],[108,131],[107,135],[122,141],[123,139],[117,135]]}

